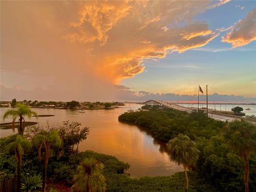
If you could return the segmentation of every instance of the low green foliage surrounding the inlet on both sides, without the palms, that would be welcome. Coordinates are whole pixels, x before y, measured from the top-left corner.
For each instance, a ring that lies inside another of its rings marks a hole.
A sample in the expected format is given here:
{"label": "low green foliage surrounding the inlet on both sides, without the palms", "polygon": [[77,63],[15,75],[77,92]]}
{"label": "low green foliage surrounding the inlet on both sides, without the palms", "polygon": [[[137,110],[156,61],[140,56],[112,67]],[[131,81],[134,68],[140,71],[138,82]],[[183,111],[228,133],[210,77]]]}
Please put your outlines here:
{"label": "low green foliage surrounding the inlet on both sides, without the palms", "polygon": [[[189,171],[188,191],[243,191],[243,159],[241,159],[220,137],[221,128],[226,125],[207,118],[203,114],[187,114],[182,111],[158,110],[141,111],[122,115],[123,121],[136,123],[146,127],[155,138],[169,141],[179,133],[188,135],[196,141],[197,148],[201,151],[195,166],[195,171]],[[121,120],[121,117],[119,117]],[[145,129],[145,128],[144,128]],[[35,131],[35,134],[38,134]],[[66,134],[66,133],[64,133]],[[67,135],[63,135],[65,138]],[[70,135],[69,135],[70,136]],[[69,137],[67,136],[67,137]],[[1,179],[12,178],[17,175],[14,154],[6,151],[6,146],[15,141],[15,135],[0,139],[0,175]],[[71,137],[71,136],[70,136]],[[94,158],[104,166],[103,175],[106,178],[107,191],[184,191],[185,175],[183,172],[171,176],[143,177],[132,179],[125,174],[129,164],[118,161],[109,155],[98,154],[93,151],[78,153],[73,149],[72,142],[66,142],[65,153],[62,140],[61,147],[51,148],[47,177],[54,181],[66,180],[67,184],[74,184],[73,178],[77,165],[85,158]],[[43,175],[43,166],[39,161],[36,146],[33,146],[22,156],[22,178],[25,175]],[[255,192],[256,185],[256,157],[254,154],[250,162],[250,192]],[[4,177],[2,178],[2,175]]]}

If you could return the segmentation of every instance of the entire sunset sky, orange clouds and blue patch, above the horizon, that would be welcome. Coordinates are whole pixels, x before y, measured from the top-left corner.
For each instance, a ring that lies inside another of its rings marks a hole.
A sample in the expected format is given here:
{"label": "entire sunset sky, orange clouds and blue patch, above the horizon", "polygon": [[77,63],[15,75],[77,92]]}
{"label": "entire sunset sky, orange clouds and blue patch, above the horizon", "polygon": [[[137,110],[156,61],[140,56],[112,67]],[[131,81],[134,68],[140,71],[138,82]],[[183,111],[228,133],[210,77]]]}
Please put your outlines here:
{"label": "entire sunset sky, orange clouds and blue patch, above the horizon", "polygon": [[[1,1],[1,100],[256,102],[255,1]],[[204,98],[204,96],[202,97]]]}

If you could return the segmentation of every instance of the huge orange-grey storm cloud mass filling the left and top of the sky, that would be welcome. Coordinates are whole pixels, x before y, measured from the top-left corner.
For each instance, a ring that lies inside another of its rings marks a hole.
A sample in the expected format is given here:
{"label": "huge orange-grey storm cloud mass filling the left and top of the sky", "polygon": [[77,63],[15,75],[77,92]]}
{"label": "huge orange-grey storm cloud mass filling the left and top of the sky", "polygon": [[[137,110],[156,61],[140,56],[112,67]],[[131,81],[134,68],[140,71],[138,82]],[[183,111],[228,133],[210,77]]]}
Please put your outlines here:
{"label": "huge orange-grey storm cloud mass filling the left and top of the sky", "polygon": [[2,1],[1,99],[137,100],[142,92],[117,84],[145,60],[211,42],[227,29],[194,17],[227,2]]}

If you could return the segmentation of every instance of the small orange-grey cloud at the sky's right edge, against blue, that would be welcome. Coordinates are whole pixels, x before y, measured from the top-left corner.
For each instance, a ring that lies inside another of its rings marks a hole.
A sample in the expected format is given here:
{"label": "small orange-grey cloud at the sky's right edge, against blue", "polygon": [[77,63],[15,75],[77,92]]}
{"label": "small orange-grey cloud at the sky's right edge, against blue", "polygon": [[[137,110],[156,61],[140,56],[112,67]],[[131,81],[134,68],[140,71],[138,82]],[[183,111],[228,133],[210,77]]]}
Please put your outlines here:
{"label": "small orange-grey cloud at the sky's right edge, against blue", "polygon": [[249,44],[256,40],[256,9],[250,11],[246,17],[239,20],[231,31],[222,36],[222,42],[231,43],[233,48]]}

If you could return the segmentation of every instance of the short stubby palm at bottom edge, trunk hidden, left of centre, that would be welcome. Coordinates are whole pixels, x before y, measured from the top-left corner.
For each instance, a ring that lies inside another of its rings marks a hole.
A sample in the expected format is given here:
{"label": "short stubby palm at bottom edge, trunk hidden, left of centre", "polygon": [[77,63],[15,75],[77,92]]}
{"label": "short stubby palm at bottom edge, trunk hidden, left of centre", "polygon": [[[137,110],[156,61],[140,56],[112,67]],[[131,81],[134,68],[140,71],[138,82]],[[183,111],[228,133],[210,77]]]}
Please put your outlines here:
{"label": "short stubby palm at bottom edge, trunk hidden, left of centre", "polygon": [[103,164],[93,158],[86,158],[77,166],[74,176],[76,189],[82,192],[106,191],[105,177],[102,175]]}

